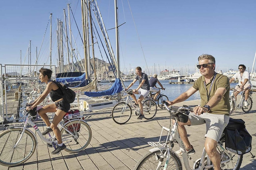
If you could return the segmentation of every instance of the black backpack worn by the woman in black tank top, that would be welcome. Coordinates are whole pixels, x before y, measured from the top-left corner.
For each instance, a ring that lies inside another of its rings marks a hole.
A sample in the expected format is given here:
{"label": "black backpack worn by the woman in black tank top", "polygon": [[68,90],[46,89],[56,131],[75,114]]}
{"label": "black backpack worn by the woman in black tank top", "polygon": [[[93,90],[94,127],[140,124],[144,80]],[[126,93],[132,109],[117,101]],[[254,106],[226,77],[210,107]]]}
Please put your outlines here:
{"label": "black backpack worn by the woman in black tank top", "polygon": [[73,103],[75,101],[76,93],[73,90],[71,90],[70,88],[68,88],[67,84],[64,85],[64,84],[62,84],[60,82],[56,82],[55,80],[52,81],[52,82],[56,83],[59,86],[59,88],[62,91],[63,95],[60,95],[56,91],[51,90],[52,94],[62,97],[68,103]]}

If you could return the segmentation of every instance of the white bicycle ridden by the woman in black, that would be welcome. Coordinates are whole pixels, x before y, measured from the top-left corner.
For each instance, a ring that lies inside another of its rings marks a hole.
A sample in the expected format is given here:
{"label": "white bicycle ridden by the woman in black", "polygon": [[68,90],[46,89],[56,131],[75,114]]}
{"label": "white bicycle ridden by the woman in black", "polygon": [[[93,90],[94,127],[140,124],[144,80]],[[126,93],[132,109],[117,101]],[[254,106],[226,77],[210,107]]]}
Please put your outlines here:
{"label": "white bicycle ridden by the woman in black", "polygon": [[[49,133],[49,138],[45,138],[37,125],[31,121],[31,118],[32,116],[27,112],[21,124],[9,125],[0,134],[1,165],[20,165],[33,155],[38,142],[36,135],[28,128],[28,125],[31,125],[35,129],[41,140],[46,142],[48,147],[54,147],[56,149],[58,143],[55,135],[51,136]],[[92,139],[92,130],[89,124],[81,119],[81,116],[69,116],[69,119],[65,119],[58,126],[63,144],[66,145],[64,150],[67,152],[76,153],[85,149]]]}

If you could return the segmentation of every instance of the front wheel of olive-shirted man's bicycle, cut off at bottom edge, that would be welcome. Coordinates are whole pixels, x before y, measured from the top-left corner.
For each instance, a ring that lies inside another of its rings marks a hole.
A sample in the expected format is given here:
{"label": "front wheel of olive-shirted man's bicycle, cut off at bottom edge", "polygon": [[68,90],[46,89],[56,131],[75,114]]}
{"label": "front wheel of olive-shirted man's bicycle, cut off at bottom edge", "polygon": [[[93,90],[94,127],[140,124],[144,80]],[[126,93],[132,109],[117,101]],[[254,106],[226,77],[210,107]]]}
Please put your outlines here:
{"label": "front wheel of olive-shirted man's bicycle, cut off at bottom edge", "polygon": [[[149,152],[145,156],[141,158],[141,160],[137,163],[134,170],[147,170],[147,169],[156,169],[157,165],[160,161],[160,156],[164,154],[165,150],[163,150],[163,153],[161,153],[160,150]],[[171,157],[168,162],[168,170],[182,170],[182,165],[180,162],[179,157],[175,153],[170,153]],[[162,165],[160,167],[161,169],[164,169],[164,164],[166,161],[166,157],[164,158]]]}

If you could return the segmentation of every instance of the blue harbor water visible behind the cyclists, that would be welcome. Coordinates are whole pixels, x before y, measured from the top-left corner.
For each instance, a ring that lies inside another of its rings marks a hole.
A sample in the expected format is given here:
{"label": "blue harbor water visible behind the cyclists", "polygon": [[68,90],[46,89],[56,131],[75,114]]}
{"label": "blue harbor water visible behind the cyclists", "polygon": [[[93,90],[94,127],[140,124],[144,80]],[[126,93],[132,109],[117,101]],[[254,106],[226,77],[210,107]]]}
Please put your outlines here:
{"label": "blue harbor water visible behind the cyclists", "polygon": [[[161,94],[164,94],[168,97],[169,100],[174,100],[176,97],[178,97],[183,92],[187,91],[190,87],[193,86],[193,83],[190,84],[170,84],[170,80],[159,80],[160,83],[163,85],[165,90],[161,90]],[[124,82],[125,87],[128,87],[131,82]],[[109,85],[110,83],[101,83],[102,85]],[[113,83],[111,83],[112,85]],[[231,83],[231,87],[235,87],[237,83]],[[130,89],[135,89],[139,85],[139,82],[135,82],[135,84]],[[160,86],[157,83],[157,87],[160,88]],[[189,100],[198,100],[200,99],[199,91],[197,91],[195,94],[193,94],[191,97],[189,97],[186,101]]]}

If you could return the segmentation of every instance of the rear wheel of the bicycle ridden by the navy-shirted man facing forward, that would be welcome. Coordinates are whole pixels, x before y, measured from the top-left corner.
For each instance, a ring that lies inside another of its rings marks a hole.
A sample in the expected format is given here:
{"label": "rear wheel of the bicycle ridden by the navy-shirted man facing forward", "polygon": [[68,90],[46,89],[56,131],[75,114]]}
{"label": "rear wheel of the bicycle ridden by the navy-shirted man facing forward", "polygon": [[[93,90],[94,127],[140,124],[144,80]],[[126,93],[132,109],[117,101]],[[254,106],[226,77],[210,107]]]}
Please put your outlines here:
{"label": "rear wheel of the bicycle ridden by the navy-shirted man facing forward", "polygon": [[157,104],[152,99],[143,101],[143,114],[145,119],[152,119],[157,113]]}

